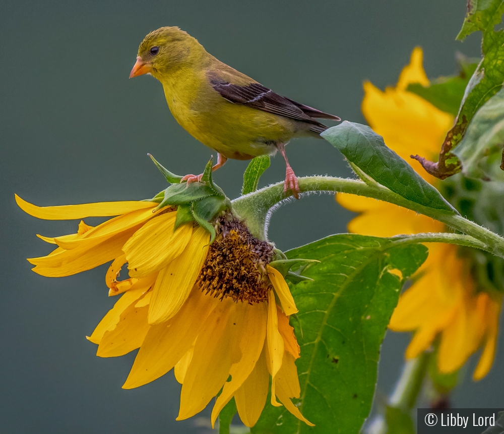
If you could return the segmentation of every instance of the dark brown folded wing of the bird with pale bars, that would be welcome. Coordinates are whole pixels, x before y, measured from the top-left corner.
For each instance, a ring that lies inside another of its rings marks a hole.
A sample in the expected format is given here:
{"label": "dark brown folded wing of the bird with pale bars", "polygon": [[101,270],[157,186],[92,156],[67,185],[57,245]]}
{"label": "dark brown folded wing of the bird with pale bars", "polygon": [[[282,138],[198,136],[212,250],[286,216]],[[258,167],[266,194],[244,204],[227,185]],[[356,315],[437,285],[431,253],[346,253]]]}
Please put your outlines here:
{"label": "dark brown folded wing of the bird with pale bars", "polygon": [[337,116],[321,112],[316,108],[281,96],[260,83],[238,85],[216,78],[211,79],[210,83],[214,90],[230,102],[256,108],[263,112],[285,116],[296,121],[307,122],[312,124],[310,130],[319,134],[325,131],[327,127],[313,118],[341,120]]}

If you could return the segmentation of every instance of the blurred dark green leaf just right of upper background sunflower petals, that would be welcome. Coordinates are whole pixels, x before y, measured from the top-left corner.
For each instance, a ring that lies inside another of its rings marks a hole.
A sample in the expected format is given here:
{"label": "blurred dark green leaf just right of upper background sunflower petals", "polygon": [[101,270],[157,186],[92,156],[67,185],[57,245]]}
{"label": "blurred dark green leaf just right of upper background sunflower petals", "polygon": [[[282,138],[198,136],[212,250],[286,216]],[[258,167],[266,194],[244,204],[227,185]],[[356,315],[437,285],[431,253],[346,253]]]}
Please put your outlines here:
{"label": "blurred dark green leaf just right of upper background sunflower petals", "polygon": [[478,66],[478,62],[461,64],[461,72],[457,76],[439,77],[436,80],[432,80],[427,87],[422,86],[420,83],[412,83],[406,90],[426,99],[432,105],[439,108],[439,110],[457,116],[464,91],[470,77]]}

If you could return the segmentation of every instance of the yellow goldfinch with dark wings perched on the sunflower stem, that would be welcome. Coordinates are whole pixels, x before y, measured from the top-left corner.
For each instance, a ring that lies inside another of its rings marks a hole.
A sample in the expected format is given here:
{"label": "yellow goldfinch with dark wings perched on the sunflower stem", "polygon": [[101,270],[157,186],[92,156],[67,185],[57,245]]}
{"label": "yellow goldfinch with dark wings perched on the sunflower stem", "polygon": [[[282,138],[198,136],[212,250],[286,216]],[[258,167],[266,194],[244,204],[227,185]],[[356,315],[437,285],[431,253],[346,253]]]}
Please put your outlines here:
{"label": "yellow goldfinch with dark wings perched on the sunflower stem", "polygon": [[[178,27],[161,27],[144,38],[130,78],[142,74],[161,82],[176,121],[217,151],[213,170],[228,158],[247,160],[278,150],[287,166],[284,191],[295,197],[299,185],[285,144],[293,137],[320,137],[328,127],[316,118],[341,120],[280,96],[227,66]],[[186,175],[183,180],[199,181],[201,175]]]}

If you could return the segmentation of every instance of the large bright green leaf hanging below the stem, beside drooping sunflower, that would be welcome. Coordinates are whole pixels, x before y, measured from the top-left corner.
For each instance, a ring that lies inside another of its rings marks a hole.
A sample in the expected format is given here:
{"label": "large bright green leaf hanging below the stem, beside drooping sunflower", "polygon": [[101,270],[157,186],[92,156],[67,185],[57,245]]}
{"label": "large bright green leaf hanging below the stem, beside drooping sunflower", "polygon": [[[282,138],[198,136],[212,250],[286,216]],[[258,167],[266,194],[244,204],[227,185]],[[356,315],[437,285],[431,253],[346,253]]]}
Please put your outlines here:
{"label": "large bright green leaf hanging below the stem, beside drooping sunflower", "polygon": [[[371,408],[380,346],[399,292],[427,248],[342,234],[286,255],[321,261],[304,270],[313,282],[289,285],[299,309],[293,325],[301,346],[301,398],[293,401],[316,426],[267,404],[251,432],[357,433]],[[400,273],[390,273],[395,267]]]}

